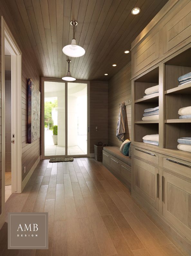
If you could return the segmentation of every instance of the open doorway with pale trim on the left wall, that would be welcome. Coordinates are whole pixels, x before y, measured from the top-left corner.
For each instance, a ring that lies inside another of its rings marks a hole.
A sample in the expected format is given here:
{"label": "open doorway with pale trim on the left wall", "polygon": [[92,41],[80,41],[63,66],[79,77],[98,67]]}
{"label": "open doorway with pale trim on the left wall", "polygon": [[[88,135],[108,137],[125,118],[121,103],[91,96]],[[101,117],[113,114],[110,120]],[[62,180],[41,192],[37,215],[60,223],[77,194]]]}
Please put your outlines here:
{"label": "open doorway with pale trim on the left wall", "polygon": [[21,60],[22,53],[3,17],[2,21],[2,214],[11,193],[21,193]]}

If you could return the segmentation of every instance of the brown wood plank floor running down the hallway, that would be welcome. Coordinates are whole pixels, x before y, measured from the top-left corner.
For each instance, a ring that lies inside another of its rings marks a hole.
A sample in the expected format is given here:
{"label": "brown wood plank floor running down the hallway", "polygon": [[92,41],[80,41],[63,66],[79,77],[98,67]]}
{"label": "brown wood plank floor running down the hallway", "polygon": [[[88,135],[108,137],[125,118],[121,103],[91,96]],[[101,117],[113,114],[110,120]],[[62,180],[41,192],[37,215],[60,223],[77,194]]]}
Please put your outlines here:
{"label": "brown wood plank floor running down the hallway", "polygon": [[7,223],[0,255],[178,256],[183,255],[132,200],[129,190],[101,162],[40,161],[7,212],[48,212],[48,250],[7,250]]}

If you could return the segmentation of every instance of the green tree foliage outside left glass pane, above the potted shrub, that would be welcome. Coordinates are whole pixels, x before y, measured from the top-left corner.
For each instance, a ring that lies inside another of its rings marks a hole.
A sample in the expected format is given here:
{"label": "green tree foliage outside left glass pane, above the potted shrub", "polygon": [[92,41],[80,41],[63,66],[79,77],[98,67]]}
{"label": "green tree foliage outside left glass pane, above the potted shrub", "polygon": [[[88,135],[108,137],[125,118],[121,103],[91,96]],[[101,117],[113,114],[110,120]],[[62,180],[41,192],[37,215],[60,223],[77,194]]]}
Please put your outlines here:
{"label": "green tree foliage outside left glass pane, above the potted shrub", "polygon": [[53,129],[52,109],[58,107],[58,100],[44,102],[44,127],[49,130]]}

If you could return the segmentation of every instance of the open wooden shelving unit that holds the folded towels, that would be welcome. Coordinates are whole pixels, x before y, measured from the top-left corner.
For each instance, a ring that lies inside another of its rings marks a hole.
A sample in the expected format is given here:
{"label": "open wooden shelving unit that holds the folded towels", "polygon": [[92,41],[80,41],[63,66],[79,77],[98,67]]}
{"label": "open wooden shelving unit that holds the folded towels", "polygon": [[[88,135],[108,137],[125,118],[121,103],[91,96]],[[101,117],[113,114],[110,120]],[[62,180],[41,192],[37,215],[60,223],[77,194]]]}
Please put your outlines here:
{"label": "open wooden shelving unit that holds the folded towels", "polygon": [[[179,119],[178,110],[191,106],[191,82],[181,86],[178,77],[191,72],[191,49],[185,50],[173,58],[167,58],[164,63],[159,63],[153,69],[139,75],[132,81],[134,93],[133,142],[138,146],[148,149],[158,148],[176,152],[176,154],[191,157],[191,153],[177,149],[177,139],[191,137],[191,118]],[[144,97],[145,89],[159,84],[159,93]],[[158,121],[142,121],[146,108],[159,106]],[[143,143],[143,137],[148,134],[159,134],[159,146]]]}

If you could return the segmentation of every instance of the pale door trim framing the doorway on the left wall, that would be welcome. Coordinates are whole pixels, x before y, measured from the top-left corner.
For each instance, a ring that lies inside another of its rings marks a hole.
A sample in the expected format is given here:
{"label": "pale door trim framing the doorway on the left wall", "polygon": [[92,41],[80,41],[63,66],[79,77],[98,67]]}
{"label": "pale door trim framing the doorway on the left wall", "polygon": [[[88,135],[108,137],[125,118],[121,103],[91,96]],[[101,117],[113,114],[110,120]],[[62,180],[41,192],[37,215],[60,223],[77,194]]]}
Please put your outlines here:
{"label": "pale door trim framing the doorway on the left wall", "polygon": [[[22,52],[1,17],[2,28],[2,213],[5,213],[5,42],[11,53],[11,98],[12,117],[11,130],[14,141],[11,146],[12,193],[21,193],[22,184],[22,115],[21,115],[21,88],[22,88]],[[13,139],[13,138],[12,138]]]}

